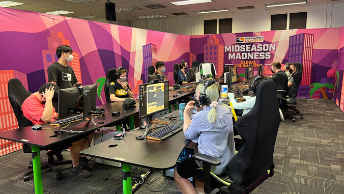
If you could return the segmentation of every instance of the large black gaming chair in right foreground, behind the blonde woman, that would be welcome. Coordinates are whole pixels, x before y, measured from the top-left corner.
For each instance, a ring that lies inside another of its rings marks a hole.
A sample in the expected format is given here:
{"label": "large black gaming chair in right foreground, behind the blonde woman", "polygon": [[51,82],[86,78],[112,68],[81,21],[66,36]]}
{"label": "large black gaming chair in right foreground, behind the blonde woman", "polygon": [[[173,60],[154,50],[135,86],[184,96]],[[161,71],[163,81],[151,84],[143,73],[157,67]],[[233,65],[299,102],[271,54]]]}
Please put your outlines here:
{"label": "large black gaming chair in right foreground, behind the blonde woman", "polygon": [[220,193],[249,193],[274,174],[273,152],[279,127],[279,110],[275,83],[264,80],[257,88],[256,100],[249,113],[237,120],[236,128],[243,140],[239,152],[227,164],[227,173],[210,173],[220,160],[205,155],[192,157],[202,161],[193,178],[205,182],[205,193],[219,188]]}

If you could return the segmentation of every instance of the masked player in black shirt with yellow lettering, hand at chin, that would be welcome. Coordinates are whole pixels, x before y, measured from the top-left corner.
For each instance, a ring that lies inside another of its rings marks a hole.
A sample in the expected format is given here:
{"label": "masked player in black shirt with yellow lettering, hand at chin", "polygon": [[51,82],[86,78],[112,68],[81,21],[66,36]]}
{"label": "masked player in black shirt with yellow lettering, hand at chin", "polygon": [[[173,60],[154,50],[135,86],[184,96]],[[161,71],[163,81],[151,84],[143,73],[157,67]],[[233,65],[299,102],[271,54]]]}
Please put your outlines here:
{"label": "masked player in black shirt with yellow lettering, hand at chin", "polygon": [[127,98],[133,98],[134,93],[131,91],[128,79],[127,70],[124,67],[119,67],[114,74],[116,80],[110,83],[109,95],[112,102],[123,102]]}

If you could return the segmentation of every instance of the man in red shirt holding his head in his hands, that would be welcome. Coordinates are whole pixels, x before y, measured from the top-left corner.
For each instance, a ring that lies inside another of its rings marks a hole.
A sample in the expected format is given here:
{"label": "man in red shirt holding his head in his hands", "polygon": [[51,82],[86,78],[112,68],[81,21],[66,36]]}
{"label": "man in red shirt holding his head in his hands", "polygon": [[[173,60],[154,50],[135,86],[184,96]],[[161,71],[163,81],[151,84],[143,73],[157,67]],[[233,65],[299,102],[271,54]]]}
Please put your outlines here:
{"label": "man in red shirt holding his head in his hands", "polygon": [[[56,89],[56,90],[55,90]],[[34,124],[42,124],[54,121],[58,114],[52,106],[53,101],[58,101],[59,88],[55,84],[47,83],[41,86],[38,92],[31,94],[25,99],[21,105],[23,115]],[[88,139],[92,141],[94,133],[88,135]],[[91,176],[90,164],[85,156],[80,157],[81,150],[89,148],[87,138],[72,143],[70,156],[73,163],[72,175],[79,178],[87,178]],[[86,160],[84,160],[86,159]]]}

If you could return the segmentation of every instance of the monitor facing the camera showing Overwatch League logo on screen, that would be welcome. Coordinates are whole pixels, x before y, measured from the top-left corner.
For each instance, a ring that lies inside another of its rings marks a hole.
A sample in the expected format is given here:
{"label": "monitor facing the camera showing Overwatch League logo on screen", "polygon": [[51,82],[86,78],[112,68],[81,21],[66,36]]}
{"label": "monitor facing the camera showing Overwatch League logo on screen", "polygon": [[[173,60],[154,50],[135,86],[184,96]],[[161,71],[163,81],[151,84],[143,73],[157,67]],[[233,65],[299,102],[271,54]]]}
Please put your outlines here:
{"label": "monitor facing the camera showing Overwatch League logo on screen", "polygon": [[168,109],[168,81],[139,85],[139,118]]}

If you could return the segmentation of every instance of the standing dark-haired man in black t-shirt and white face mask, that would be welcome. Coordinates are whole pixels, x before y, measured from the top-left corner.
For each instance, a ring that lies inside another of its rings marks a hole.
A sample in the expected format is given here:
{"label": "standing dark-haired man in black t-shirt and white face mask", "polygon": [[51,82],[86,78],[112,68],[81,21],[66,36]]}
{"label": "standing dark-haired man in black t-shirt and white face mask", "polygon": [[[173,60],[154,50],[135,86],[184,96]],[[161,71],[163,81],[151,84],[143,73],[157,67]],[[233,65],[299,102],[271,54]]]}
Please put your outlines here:
{"label": "standing dark-haired man in black t-shirt and white face mask", "polygon": [[73,60],[70,46],[61,45],[56,49],[59,60],[48,67],[48,82],[56,84],[60,89],[73,88],[78,82],[74,70],[67,62]]}

